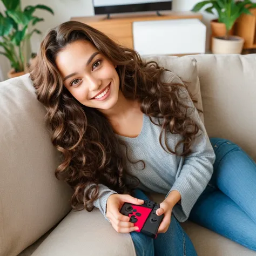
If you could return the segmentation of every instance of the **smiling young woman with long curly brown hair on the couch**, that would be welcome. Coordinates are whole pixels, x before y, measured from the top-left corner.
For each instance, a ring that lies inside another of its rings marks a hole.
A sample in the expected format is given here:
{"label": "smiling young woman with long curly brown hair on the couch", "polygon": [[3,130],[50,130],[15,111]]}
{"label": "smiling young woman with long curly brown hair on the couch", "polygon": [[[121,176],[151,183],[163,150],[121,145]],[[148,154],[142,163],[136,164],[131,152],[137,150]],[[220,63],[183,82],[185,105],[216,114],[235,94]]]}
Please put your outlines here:
{"label": "smiling young woman with long curly brown hair on the couch", "polygon": [[[131,232],[137,255],[197,255],[179,224],[188,218],[256,250],[255,163],[227,140],[210,142],[174,77],[83,23],[50,30],[31,79],[62,152],[56,177],[73,188],[74,209],[97,207]],[[166,194],[156,239],[119,212],[143,204],[143,191]]]}

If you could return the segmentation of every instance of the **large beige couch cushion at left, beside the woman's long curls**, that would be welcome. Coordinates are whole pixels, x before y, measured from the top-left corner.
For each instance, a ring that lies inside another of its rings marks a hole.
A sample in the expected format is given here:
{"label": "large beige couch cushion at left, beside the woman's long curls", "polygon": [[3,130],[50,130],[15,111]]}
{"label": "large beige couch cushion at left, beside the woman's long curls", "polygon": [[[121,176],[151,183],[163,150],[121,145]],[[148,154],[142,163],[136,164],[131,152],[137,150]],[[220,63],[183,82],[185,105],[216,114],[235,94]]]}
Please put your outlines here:
{"label": "large beige couch cushion at left, beside the woman's long curls", "polygon": [[45,113],[28,75],[0,83],[1,256],[17,255],[71,210]]}

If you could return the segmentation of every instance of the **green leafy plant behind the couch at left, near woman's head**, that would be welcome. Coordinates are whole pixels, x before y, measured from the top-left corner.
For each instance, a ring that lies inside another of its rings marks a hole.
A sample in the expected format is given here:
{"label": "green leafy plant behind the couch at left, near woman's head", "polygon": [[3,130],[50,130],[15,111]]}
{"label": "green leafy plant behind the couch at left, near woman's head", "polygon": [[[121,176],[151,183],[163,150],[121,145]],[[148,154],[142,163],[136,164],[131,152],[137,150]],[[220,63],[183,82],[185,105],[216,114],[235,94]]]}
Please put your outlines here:
{"label": "green leafy plant behind the couch at left, near woman's head", "polygon": [[33,33],[41,33],[32,29],[32,26],[44,19],[33,16],[33,13],[36,9],[43,9],[51,14],[53,11],[41,4],[28,5],[22,10],[20,0],[1,1],[6,10],[0,12],[0,54],[11,63],[12,69],[8,72],[8,77],[11,78],[24,74],[31,57],[30,38]]}

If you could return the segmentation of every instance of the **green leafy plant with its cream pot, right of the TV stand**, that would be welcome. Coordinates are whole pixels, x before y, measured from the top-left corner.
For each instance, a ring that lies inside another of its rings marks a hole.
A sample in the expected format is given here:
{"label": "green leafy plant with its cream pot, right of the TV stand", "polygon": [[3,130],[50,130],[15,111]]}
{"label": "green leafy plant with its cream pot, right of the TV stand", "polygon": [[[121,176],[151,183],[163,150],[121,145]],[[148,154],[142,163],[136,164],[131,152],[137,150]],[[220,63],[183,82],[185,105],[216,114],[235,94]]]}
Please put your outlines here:
{"label": "green leafy plant with its cream pot, right of the TV stand", "polygon": [[[242,14],[251,14],[250,9],[256,7],[256,3],[250,0],[209,0],[202,1],[194,5],[192,11],[197,12],[202,8],[205,11],[214,14],[213,10],[218,14],[218,20],[213,20],[212,25],[212,52],[213,53],[241,53],[244,45],[244,38],[232,36],[234,23]],[[214,24],[215,23],[215,24]],[[215,26],[222,27],[221,30]]]}

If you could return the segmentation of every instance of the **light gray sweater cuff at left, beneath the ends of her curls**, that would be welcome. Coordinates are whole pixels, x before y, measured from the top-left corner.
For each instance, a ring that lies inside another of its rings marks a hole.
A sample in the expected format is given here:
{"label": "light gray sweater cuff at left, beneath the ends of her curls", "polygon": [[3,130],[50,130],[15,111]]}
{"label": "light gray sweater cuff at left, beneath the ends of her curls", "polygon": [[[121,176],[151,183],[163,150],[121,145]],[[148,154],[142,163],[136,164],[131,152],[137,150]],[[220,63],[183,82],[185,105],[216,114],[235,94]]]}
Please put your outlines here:
{"label": "light gray sweater cuff at left, beneath the ends of her curls", "polygon": [[[86,187],[85,190],[89,189],[89,187]],[[95,206],[100,210],[100,212],[102,212],[102,214],[104,215],[107,221],[109,221],[109,219],[107,219],[106,217],[106,203],[107,203],[107,199],[109,198],[109,196],[111,196],[111,194],[117,194],[117,192],[111,190],[110,188],[108,188],[103,184],[99,184],[99,198],[93,201],[93,206]]]}

